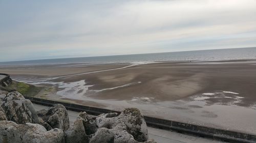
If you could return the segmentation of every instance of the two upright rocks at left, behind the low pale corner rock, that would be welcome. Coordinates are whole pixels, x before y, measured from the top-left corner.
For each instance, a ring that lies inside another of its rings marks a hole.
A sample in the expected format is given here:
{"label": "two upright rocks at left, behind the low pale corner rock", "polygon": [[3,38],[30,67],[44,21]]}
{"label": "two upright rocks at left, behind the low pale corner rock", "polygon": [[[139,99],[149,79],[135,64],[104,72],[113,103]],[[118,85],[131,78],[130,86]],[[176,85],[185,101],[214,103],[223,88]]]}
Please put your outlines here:
{"label": "two upright rocks at left, behind the low pale corner rock", "polygon": [[10,93],[1,91],[0,99],[0,121],[8,120],[17,124],[37,123],[47,130],[69,128],[68,111],[61,104],[56,104],[48,110],[36,111],[31,101],[16,91]]}

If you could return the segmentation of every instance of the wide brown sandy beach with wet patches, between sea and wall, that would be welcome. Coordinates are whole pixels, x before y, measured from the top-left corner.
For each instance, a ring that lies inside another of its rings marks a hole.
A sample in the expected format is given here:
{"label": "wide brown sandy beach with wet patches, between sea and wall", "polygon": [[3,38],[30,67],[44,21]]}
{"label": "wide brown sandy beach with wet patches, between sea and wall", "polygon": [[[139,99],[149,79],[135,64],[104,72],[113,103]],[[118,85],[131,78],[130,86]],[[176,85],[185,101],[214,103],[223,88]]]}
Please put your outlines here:
{"label": "wide brown sandy beach with wet patches, between sea and wall", "polygon": [[256,62],[2,66],[14,80],[46,85],[37,97],[255,133]]}

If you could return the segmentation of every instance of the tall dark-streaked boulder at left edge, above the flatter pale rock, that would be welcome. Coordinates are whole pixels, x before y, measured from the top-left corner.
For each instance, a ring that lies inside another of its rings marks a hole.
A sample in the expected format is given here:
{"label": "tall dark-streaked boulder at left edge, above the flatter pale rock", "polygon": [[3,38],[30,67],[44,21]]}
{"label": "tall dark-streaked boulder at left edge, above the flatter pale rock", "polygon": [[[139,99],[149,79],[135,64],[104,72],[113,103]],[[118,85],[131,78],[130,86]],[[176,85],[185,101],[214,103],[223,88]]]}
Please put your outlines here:
{"label": "tall dark-streaked boulder at left edge, above the flatter pale rock", "polygon": [[6,96],[1,95],[1,107],[7,120],[17,124],[39,123],[37,113],[30,100],[25,99],[18,92],[10,92]]}

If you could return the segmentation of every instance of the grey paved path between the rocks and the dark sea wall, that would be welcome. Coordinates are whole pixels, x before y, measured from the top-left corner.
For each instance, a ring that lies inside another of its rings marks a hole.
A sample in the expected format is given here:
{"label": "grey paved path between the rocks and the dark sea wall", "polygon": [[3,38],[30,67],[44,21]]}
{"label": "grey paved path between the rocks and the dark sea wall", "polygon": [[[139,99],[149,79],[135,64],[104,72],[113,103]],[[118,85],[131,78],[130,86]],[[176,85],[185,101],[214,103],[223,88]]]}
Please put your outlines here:
{"label": "grey paved path between the rocks and the dark sea wall", "polygon": [[[49,108],[48,106],[42,106],[42,105],[38,105],[38,104],[34,104],[34,103],[33,103],[33,105],[36,110]],[[73,124],[78,116],[78,112],[68,110],[68,113],[69,113],[70,124]],[[191,135],[181,134],[181,133],[177,133],[177,132],[151,128],[151,127],[148,127],[147,130],[148,130],[149,137],[154,138],[158,143],[184,143],[184,142],[185,143],[196,143],[196,142],[198,142],[198,143],[203,143],[203,142],[217,143],[217,142],[221,142],[221,141],[216,141],[216,140],[212,140],[212,139],[208,139],[208,138],[191,136]]]}

